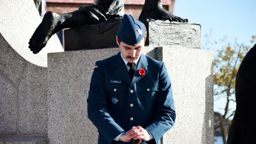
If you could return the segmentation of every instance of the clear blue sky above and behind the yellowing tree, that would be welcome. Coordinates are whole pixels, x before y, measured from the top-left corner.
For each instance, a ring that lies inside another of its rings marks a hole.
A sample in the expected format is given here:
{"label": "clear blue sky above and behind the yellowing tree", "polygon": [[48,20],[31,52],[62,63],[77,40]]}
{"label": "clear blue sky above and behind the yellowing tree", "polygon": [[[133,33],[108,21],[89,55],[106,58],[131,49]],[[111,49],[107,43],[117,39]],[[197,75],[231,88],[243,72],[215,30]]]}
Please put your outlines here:
{"label": "clear blue sky above and behind the yellowing tree", "polygon": [[[175,0],[173,14],[189,23],[201,24],[201,48],[205,48],[205,34],[211,31],[210,42],[226,37],[232,46],[235,39],[239,44],[253,46],[252,35],[256,35],[256,0]],[[212,51],[219,45],[211,45]],[[221,112],[225,99],[214,101],[214,111]],[[231,104],[235,109],[235,103]]]}

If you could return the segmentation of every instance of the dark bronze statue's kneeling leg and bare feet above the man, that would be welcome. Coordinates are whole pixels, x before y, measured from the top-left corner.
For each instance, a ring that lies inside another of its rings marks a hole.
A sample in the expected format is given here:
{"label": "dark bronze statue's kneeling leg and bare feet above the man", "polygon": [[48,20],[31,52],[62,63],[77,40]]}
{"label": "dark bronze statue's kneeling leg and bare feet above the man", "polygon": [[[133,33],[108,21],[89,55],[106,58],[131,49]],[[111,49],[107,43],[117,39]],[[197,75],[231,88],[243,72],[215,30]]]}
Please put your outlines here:
{"label": "dark bronze statue's kneeling leg and bare feet above the man", "polygon": [[[82,6],[70,13],[57,14],[53,11],[45,13],[42,22],[36,28],[29,48],[34,54],[41,51],[51,36],[64,28],[92,25],[111,19],[122,18],[124,15],[124,0],[94,0],[94,5]],[[188,22],[162,8],[161,0],[145,0],[139,20],[146,19]]]}

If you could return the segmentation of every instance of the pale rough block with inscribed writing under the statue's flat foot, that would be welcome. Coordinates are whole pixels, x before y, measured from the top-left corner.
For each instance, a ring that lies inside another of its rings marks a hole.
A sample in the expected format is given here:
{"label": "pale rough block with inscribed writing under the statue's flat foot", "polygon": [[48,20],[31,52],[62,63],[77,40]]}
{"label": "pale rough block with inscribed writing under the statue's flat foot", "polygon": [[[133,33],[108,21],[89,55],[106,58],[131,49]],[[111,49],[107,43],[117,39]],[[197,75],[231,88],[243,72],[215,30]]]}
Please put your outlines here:
{"label": "pale rough block with inscribed writing under the statue's flat foot", "polygon": [[200,49],[201,25],[161,20],[142,21],[148,31],[146,45]]}

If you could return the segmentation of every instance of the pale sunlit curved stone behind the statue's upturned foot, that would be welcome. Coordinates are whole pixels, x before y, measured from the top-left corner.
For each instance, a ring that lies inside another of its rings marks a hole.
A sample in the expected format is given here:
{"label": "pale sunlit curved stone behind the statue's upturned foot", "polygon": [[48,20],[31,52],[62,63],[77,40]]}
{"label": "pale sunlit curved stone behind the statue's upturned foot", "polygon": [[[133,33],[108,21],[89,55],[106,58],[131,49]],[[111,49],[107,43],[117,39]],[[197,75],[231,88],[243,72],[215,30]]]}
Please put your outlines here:
{"label": "pale sunlit curved stone behind the statue's upturned foot", "polygon": [[1,1],[0,5],[0,33],[24,59],[37,66],[47,67],[47,53],[64,51],[56,35],[38,54],[33,54],[28,48],[29,39],[42,21],[32,0]]}

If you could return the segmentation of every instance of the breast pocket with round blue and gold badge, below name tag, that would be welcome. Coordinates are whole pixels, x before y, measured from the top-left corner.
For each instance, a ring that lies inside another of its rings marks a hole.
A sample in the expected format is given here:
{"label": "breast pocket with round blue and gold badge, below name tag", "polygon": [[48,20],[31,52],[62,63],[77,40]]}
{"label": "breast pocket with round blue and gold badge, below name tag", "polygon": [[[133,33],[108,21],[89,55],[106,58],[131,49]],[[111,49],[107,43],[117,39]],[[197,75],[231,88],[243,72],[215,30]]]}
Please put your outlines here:
{"label": "breast pocket with round blue and gold badge, below name tag", "polygon": [[126,85],[122,83],[108,83],[105,85],[108,109],[123,110],[125,108],[126,89]]}

